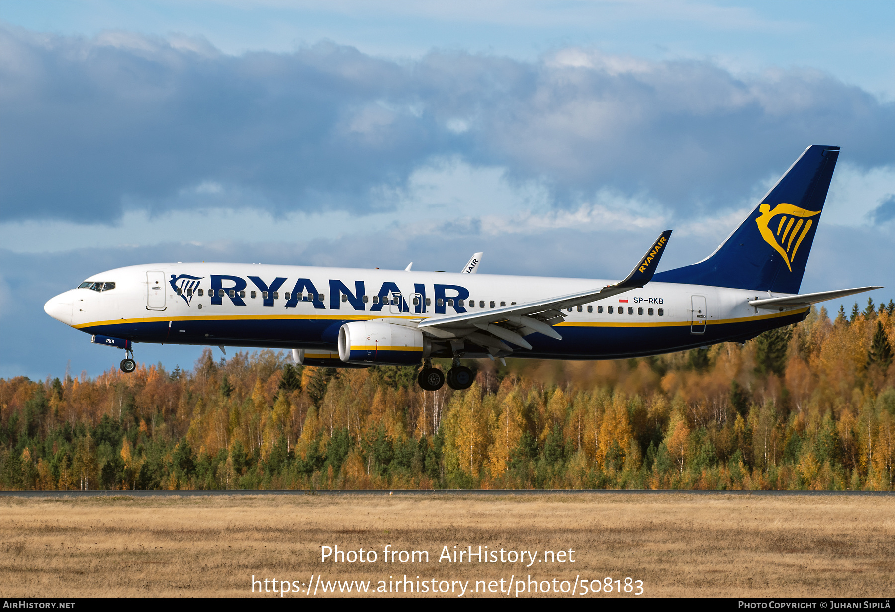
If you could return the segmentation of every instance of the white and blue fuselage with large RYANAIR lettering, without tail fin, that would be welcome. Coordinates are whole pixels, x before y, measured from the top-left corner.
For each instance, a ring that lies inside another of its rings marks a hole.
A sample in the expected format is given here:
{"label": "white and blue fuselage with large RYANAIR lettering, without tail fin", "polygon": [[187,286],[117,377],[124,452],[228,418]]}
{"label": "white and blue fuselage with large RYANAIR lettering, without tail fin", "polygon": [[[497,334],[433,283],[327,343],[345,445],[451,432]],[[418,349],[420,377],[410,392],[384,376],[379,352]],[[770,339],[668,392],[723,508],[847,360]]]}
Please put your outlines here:
{"label": "white and blue fuselage with large RYANAIR lettering, without tail fin", "polygon": [[[323,351],[335,351],[338,327],[345,322],[481,312],[612,282],[245,263],[153,263],[87,281],[115,283],[115,288],[71,289],[47,302],[47,313],[83,332],[134,342]],[[516,349],[513,357],[658,354],[745,340],[785,324],[781,318],[795,323],[804,317],[805,306],[765,310],[748,304],[769,295],[650,282],[563,310],[566,320],[556,325],[563,340],[532,334],[533,349]]]}

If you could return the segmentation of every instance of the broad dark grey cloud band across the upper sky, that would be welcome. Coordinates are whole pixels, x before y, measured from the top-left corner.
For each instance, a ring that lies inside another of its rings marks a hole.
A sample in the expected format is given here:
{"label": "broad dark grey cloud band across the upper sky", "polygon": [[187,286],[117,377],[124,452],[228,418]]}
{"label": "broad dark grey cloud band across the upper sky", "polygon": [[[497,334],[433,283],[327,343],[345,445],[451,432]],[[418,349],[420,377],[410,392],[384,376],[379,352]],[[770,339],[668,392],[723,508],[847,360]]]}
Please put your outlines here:
{"label": "broad dark grey cloud band across the upper sky", "polygon": [[[397,62],[331,42],[226,56],[200,39],[12,27],[0,52],[6,221],[115,220],[124,205],[215,197],[363,213],[388,206],[378,187],[451,155],[542,180],[559,205],[611,186],[689,215],[736,205],[808,144],[839,144],[862,168],[895,158],[895,106],[811,70],[739,79],[584,52]],[[207,181],[222,194],[183,195]]]}

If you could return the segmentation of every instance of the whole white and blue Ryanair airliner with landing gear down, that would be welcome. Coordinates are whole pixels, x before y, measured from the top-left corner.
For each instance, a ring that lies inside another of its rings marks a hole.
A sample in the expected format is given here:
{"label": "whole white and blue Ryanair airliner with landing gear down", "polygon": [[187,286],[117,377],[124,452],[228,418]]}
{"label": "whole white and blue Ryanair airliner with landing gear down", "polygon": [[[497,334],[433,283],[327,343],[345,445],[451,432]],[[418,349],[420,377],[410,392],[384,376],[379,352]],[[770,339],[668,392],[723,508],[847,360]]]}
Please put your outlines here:
{"label": "whole white and blue Ryanair airliner with landing gear down", "polygon": [[[292,349],[298,363],[415,365],[418,383],[465,389],[460,358],[615,359],[746,341],[861,287],[798,294],[839,147],[810,146],[703,261],[654,273],[662,232],[625,280],[152,263],[102,272],[47,314],[126,351],[136,342]],[[431,358],[452,358],[447,376]]]}

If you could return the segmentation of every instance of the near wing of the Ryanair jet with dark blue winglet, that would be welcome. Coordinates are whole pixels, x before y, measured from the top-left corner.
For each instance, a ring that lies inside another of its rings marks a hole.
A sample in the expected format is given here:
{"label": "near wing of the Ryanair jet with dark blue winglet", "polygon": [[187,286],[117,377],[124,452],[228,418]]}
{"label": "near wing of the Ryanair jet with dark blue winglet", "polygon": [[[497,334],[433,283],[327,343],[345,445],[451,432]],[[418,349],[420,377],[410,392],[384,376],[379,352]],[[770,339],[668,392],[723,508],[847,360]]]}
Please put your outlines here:
{"label": "near wing of the Ryanair jet with dark blue winglet", "polygon": [[[460,338],[472,334],[473,337],[470,337],[470,340],[477,344],[481,343],[480,340],[484,335],[482,332],[487,332],[491,336],[507,340],[525,349],[532,347],[523,339],[523,336],[534,332],[541,332],[551,338],[562,340],[562,336],[551,325],[565,320],[560,312],[563,308],[579,306],[643,287],[652,279],[652,274],[659,265],[659,260],[670,236],[670,229],[663,231],[626,279],[615,284],[600,289],[547,297],[483,312],[425,319],[418,326],[424,332],[430,332],[436,337]],[[499,342],[499,340],[495,341]],[[503,346],[506,347],[506,345]]]}

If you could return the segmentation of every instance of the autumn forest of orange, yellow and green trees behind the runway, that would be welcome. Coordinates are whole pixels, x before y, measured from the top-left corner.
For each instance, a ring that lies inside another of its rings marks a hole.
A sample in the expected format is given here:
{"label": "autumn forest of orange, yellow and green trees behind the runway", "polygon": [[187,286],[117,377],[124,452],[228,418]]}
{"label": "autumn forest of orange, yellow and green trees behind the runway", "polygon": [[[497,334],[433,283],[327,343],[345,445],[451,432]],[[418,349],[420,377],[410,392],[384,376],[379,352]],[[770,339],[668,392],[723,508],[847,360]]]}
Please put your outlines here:
{"label": "autumn forest of orange, yellow and green trees behind the runway", "polygon": [[465,362],[466,391],[271,350],[0,379],[0,487],[891,489],[893,310],[653,358]]}

